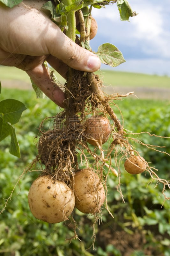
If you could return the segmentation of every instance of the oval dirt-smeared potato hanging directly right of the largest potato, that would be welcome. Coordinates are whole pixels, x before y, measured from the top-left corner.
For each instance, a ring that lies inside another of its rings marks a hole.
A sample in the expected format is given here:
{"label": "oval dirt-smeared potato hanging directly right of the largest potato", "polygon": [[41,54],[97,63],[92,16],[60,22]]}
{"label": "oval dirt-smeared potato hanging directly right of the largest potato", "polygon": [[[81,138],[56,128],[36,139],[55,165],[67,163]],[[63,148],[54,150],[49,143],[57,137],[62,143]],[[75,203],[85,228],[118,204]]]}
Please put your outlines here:
{"label": "oval dirt-smeared potato hanging directly right of the largest potato", "polygon": [[98,175],[90,169],[76,172],[74,184],[75,207],[83,213],[98,212],[105,201],[105,190]]}

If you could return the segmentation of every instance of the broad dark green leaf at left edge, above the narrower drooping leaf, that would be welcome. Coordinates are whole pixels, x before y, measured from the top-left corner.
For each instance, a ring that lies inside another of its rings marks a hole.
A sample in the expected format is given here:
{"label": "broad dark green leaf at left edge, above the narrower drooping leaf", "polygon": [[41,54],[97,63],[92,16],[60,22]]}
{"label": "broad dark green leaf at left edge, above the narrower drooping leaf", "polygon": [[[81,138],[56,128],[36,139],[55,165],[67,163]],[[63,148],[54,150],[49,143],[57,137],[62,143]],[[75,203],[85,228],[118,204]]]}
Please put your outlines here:
{"label": "broad dark green leaf at left edge, above the narrower drooping leaf", "polygon": [[16,124],[26,106],[19,100],[7,99],[0,101],[0,113],[3,115],[4,122]]}

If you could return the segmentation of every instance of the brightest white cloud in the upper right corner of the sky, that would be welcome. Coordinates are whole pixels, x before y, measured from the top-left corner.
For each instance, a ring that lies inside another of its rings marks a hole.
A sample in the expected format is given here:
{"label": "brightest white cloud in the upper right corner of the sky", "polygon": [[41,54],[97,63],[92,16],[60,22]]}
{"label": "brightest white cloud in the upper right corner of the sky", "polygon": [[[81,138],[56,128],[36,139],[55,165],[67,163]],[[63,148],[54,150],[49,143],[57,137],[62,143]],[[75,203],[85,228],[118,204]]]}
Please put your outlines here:
{"label": "brightest white cloud in the upper right corner of the sky", "polygon": [[170,33],[165,26],[165,9],[162,5],[146,5],[146,1],[138,4],[137,9],[139,14],[132,20],[132,36],[137,41],[144,42],[142,50],[146,54],[160,54],[169,58]]}

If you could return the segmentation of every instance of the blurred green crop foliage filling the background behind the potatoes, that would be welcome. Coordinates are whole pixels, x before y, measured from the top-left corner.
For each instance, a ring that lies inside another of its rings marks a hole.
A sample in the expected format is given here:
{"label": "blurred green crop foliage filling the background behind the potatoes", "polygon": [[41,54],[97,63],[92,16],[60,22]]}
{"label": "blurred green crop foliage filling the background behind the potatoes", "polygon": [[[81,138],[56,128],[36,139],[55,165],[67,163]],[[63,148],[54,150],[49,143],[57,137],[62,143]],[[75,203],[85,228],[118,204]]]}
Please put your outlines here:
{"label": "blurred green crop foliage filling the background behind the potatoes", "polygon": [[[21,158],[9,153],[8,137],[0,144],[0,210],[10,196],[18,177],[37,154],[36,136],[41,120],[60,111],[48,99],[35,99],[33,92],[3,90],[2,95],[21,100],[27,109],[16,124]],[[1,99],[3,100],[2,96]],[[124,127],[127,130],[170,136],[168,101],[133,100],[129,97],[118,101],[118,106],[122,111]],[[116,107],[114,111],[120,116]],[[170,143],[167,138],[151,137],[146,133],[135,136],[147,144],[166,146],[159,150],[170,153]],[[148,162],[152,162],[152,165],[159,169],[158,174],[161,178],[170,178],[169,156],[139,144],[135,147]],[[128,174],[123,168],[123,163],[121,171],[125,203],[122,203],[122,198],[116,190],[118,179],[110,173],[107,180],[107,201],[114,219],[104,208],[102,221],[95,226],[94,250],[91,246],[94,223],[92,216],[75,210],[73,216],[79,224],[77,234],[81,241],[72,239],[71,242],[69,238],[74,236],[73,222],[48,224],[33,217],[29,210],[27,195],[38,173],[26,173],[15,188],[7,208],[0,215],[0,255],[170,256],[170,202],[164,202],[161,184],[156,187],[155,182],[150,183],[148,174],[134,176]]]}

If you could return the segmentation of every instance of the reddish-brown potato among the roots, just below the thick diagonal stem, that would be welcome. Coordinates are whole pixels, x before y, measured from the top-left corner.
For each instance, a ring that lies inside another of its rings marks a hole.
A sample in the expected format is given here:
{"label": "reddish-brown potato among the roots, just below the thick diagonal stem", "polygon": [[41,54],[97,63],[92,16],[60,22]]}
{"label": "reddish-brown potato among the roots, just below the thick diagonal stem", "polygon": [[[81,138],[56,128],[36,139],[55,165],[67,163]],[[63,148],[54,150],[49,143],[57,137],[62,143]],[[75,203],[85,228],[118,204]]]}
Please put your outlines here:
{"label": "reddish-brown potato among the roots, just below the thick diagonal stem", "polygon": [[[85,122],[85,135],[94,138],[100,145],[107,141],[110,133],[111,125],[106,117],[92,116]],[[95,140],[88,139],[87,142],[96,145]]]}

